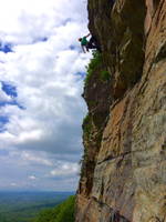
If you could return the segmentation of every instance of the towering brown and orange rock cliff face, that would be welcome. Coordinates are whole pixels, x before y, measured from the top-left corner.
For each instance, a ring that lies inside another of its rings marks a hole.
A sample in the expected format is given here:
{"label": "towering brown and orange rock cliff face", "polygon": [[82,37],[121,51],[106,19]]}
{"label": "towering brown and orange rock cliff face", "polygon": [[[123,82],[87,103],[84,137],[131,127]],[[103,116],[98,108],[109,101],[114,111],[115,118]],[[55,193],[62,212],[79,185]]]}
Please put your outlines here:
{"label": "towering brown and orange rock cliff face", "polygon": [[102,53],[83,94],[75,221],[165,222],[166,1],[89,0],[89,18]]}

